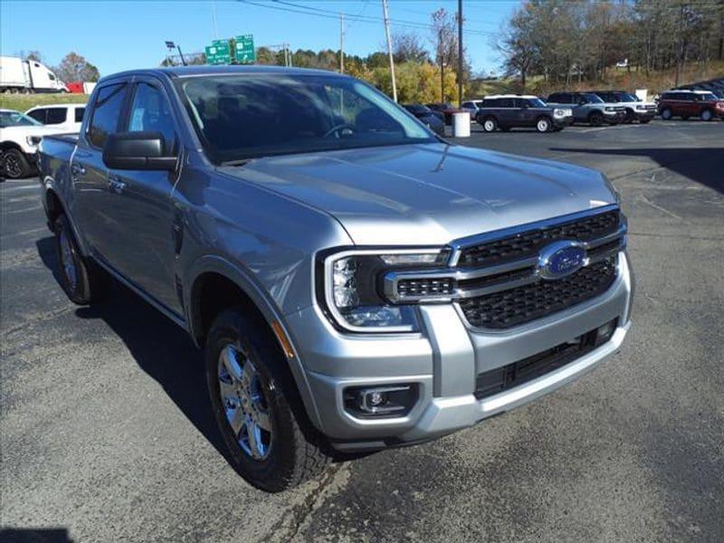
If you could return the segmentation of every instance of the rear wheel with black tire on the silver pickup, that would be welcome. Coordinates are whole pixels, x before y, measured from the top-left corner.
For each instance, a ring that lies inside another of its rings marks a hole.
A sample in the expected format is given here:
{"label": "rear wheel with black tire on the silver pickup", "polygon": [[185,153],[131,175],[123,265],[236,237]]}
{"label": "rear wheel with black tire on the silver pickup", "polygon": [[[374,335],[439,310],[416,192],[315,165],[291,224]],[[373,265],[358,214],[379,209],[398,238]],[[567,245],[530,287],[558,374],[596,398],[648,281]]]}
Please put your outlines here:
{"label": "rear wheel with black tire on the silver pickup", "polygon": [[98,264],[83,257],[71,224],[64,214],[55,220],[55,250],[60,265],[62,290],[73,303],[87,305],[101,300],[110,277]]}

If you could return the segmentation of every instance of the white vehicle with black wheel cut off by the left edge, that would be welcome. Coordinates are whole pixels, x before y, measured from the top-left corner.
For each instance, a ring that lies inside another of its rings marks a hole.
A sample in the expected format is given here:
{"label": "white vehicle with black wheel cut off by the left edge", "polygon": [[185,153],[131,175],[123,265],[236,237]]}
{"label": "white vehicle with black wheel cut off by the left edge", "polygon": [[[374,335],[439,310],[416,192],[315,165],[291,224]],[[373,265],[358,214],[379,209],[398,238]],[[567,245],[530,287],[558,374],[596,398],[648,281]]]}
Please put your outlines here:
{"label": "white vehicle with black wheel cut off by the left edge", "polygon": [[57,133],[57,128],[43,126],[20,111],[0,110],[0,176],[30,176],[41,138]]}

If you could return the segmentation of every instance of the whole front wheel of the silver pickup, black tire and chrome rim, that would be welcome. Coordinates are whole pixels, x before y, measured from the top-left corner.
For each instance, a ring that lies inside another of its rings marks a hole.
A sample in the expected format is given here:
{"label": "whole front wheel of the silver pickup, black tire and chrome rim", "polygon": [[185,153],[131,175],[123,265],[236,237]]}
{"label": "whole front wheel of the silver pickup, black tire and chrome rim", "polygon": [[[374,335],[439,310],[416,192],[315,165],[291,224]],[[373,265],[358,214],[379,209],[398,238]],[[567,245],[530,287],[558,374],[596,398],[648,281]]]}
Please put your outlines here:
{"label": "whole front wheel of the silver pickup, black tire and chrome rim", "polygon": [[205,348],[214,418],[233,468],[269,492],[316,477],[330,459],[286,364],[266,323],[241,308],[214,320]]}

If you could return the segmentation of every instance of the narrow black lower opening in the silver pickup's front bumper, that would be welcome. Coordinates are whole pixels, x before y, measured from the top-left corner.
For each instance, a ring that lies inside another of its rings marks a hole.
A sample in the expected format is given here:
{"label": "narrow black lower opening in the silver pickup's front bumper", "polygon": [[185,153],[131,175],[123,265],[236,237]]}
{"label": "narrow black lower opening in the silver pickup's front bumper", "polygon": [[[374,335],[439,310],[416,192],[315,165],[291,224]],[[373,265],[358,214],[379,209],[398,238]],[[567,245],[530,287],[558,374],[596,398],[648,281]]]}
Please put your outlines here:
{"label": "narrow black lower opening in the silver pickup's front bumper", "polygon": [[601,329],[590,330],[571,341],[548,348],[531,357],[478,374],[475,380],[475,397],[481,400],[496,395],[566,366],[608,341],[613,336],[616,320],[607,325]]}

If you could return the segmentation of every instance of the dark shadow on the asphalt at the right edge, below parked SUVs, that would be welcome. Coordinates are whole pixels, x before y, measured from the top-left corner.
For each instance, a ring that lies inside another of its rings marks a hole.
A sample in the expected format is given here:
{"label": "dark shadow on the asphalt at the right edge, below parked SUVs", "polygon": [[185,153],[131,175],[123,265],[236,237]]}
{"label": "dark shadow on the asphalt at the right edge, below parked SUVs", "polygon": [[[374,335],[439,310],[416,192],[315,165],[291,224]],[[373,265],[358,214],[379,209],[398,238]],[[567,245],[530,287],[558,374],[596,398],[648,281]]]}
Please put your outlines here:
{"label": "dark shadow on the asphalt at the right edge, below parked SUVs", "polygon": [[724,194],[724,148],[633,148],[594,149],[551,147],[560,153],[605,155],[608,157],[649,157],[660,167],[687,177],[695,183]]}

